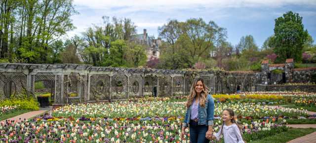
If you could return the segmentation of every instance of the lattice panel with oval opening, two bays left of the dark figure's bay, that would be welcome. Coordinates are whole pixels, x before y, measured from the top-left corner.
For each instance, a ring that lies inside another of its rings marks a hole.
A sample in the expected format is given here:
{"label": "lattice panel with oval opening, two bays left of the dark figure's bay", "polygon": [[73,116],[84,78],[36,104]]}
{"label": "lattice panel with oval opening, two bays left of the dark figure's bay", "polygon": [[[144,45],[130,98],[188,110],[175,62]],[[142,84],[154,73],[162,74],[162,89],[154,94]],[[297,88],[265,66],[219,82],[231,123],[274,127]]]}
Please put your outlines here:
{"label": "lattice panel with oval opening, two bays left of the dark figure's bay", "polygon": [[111,80],[111,99],[127,98],[127,76],[116,74]]}

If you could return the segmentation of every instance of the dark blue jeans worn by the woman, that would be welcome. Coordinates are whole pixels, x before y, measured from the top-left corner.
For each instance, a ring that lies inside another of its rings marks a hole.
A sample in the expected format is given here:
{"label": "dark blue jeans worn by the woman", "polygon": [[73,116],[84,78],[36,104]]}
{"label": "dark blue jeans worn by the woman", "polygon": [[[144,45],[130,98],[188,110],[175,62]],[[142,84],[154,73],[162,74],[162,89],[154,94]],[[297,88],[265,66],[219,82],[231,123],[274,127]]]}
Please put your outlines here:
{"label": "dark blue jeans worn by the woman", "polygon": [[196,121],[190,120],[190,143],[209,143],[205,138],[208,127],[198,125]]}

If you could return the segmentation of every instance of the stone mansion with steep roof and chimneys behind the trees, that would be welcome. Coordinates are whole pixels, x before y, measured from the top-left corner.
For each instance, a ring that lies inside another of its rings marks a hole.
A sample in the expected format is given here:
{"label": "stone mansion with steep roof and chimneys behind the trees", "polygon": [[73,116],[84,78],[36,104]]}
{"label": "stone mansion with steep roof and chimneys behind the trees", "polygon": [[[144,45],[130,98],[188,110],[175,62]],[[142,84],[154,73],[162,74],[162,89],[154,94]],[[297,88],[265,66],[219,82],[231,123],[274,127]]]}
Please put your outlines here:
{"label": "stone mansion with steep roof and chimneys behind the trees", "polygon": [[144,29],[143,34],[132,36],[131,41],[135,41],[138,44],[146,46],[147,60],[152,57],[159,58],[159,46],[161,45],[161,39],[155,39],[154,36],[149,36],[146,29]]}

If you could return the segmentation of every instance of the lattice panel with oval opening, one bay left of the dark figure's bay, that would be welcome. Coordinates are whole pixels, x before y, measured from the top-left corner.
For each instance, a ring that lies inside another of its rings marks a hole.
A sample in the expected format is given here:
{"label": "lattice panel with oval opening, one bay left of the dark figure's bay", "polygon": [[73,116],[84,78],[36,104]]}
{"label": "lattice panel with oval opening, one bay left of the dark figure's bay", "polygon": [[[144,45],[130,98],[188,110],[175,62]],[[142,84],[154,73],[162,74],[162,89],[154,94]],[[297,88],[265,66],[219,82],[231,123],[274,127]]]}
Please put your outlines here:
{"label": "lattice panel with oval opening, one bay left of the dark figure's bay", "polygon": [[129,77],[128,96],[139,97],[142,94],[143,78],[140,75],[132,75]]}

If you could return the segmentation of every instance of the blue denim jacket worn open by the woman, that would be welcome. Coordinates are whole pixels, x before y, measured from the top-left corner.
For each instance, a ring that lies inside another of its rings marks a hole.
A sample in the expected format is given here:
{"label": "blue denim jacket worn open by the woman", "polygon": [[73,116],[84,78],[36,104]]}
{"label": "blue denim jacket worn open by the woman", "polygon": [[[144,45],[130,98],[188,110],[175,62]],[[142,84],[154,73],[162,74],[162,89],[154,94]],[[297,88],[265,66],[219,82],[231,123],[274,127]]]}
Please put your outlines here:
{"label": "blue denim jacket worn open by the woman", "polygon": [[[192,105],[187,108],[187,113],[182,123],[183,127],[188,127],[190,123]],[[200,107],[198,104],[198,125],[213,125],[214,124],[214,100],[211,95],[207,95],[205,107]]]}

